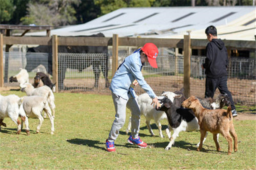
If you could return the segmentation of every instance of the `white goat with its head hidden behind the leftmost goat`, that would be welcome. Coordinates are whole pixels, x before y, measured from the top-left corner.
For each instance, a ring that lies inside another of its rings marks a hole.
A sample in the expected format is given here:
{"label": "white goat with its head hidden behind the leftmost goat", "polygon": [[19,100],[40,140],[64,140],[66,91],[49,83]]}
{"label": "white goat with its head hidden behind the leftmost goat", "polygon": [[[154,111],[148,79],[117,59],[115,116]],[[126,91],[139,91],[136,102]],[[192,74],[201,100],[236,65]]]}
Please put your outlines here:
{"label": "white goat with its head hidden behind the leftmost goat", "polygon": [[44,122],[44,118],[41,115],[44,110],[47,113],[51,122],[51,134],[54,133],[54,119],[52,117],[51,109],[49,108],[47,99],[41,96],[24,96],[23,97],[23,108],[27,117],[37,117],[39,119],[38,127],[36,128],[36,133],[39,133],[40,127]]}

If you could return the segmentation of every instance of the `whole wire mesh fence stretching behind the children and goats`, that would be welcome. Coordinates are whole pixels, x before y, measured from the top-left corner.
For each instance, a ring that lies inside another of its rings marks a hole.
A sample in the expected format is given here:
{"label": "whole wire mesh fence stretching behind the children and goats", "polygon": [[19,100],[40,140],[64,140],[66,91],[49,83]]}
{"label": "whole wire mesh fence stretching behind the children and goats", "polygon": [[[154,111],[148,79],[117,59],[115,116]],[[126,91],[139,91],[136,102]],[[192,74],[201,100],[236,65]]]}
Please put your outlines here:
{"label": "whole wire mesh fence stretching behind the children and goats", "polygon": [[[122,63],[128,53],[119,53],[118,62]],[[52,54],[48,53],[4,53],[4,62],[8,60],[8,77],[26,68],[30,82],[36,72],[46,71],[52,74]],[[191,56],[190,95],[204,97],[205,77],[201,64],[205,56]],[[6,65],[4,63],[4,65]],[[143,66],[143,76],[157,95],[163,91],[176,91],[183,88],[183,56],[172,53],[157,57],[158,68],[149,64]],[[93,91],[110,94],[109,84],[112,73],[112,55],[109,54],[58,54],[59,88],[65,91]],[[235,102],[256,104],[256,60],[254,58],[232,57],[228,66],[228,89]],[[5,86],[11,85],[10,83]],[[137,94],[145,93],[140,86],[135,87]],[[218,89],[215,97],[219,94]]]}

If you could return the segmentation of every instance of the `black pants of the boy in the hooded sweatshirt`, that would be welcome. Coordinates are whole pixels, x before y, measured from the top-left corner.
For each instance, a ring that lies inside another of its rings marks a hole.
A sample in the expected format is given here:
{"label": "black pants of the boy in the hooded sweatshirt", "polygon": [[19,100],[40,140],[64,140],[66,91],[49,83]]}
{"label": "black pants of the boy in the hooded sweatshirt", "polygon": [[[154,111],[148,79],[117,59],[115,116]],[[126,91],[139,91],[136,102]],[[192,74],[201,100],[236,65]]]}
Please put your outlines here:
{"label": "black pants of the boy in the hooded sweatshirt", "polygon": [[231,109],[232,110],[236,109],[232,95],[231,95],[230,91],[228,91],[228,89],[227,89],[227,76],[219,77],[216,79],[206,77],[204,97],[205,98],[207,98],[207,97],[213,98],[216,88],[219,89],[221,94],[228,95],[228,97],[230,99],[230,103],[231,103]]}

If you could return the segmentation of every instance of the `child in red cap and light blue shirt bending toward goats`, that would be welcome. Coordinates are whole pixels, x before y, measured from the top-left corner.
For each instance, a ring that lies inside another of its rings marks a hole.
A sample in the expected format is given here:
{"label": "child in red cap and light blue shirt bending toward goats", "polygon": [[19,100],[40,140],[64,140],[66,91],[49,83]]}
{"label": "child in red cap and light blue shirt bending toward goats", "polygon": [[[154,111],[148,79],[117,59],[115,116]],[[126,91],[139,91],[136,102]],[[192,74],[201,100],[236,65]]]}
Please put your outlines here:
{"label": "child in red cap and light blue shirt bending toward goats", "polygon": [[116,151],[114,141],[119,135],[119,130],[125,124],[126,107],[131,110],[131,135],[127,140],[128,143],[136,144],[140,148],[148,146],[139,137],[140,108],[137,101],[137,95],[131,85],[139,84],[151,97],[154,107],[160,107],[156,94],[154,94],[152,88],[144,80],[141,72],[142,67],[146,62],[149,62],[153,68],[157,68],[157,55],[157,46],[153,43],[146,43],[142,48],[139,48],[133,54],[126,57],[122,64],[117,68],[110,85],[116,116],[109,132],[108,139],[106,140],[108,152]]}

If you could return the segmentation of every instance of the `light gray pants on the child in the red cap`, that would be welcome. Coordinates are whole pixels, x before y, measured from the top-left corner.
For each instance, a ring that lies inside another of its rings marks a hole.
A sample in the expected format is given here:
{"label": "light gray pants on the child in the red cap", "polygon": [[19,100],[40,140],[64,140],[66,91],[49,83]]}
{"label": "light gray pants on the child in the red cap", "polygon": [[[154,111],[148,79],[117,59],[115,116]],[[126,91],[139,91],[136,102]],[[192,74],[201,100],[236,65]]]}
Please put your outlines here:
{"label": "light gray pants on the child in the red cap", "polygon": [[119,130],[125,124],[126,107],[131,110],[131,136],[137,138],[140,131],[140,108],[137,99],[129,93],[129,99],[123,99],[112,92],[112,99],[116,110],[115,120],[108,135],[108,141],[113,142],[119,135]]}

